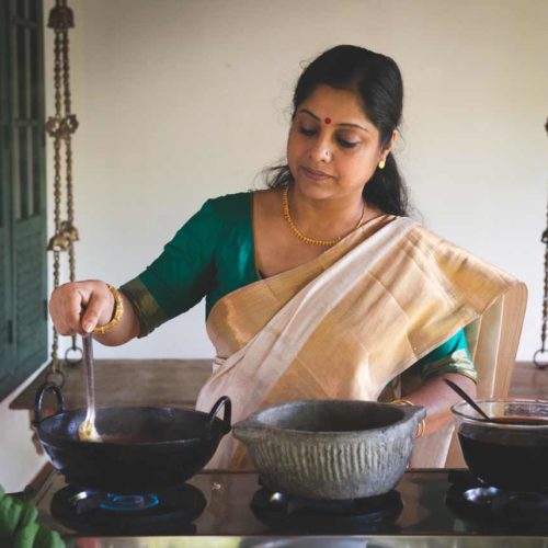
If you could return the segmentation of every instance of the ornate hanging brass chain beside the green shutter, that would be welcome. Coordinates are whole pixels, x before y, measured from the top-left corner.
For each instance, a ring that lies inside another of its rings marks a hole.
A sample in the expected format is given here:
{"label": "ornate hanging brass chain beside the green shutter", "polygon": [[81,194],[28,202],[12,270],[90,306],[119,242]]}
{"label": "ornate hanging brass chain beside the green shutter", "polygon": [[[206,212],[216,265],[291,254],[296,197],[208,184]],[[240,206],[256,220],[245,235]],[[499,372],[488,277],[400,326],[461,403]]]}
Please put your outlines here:
{"label": "ornate hanging brass chain beside the green shutter", "polygon": [[[75,241],[78,230],[75,227],[73,197],[72,197],[72,134],[78,128],[78,121],[71,114],[70,98],[70,64],[68,31],[75,26],[73,13],[67,7],[66,0],[56,0],[56,5],[49,12],[47,26],[55,32],[54,43],[54,88],[55,115],[46,122],[46,132],[54,139],[54,236],[50,238],[47,250],[54,254],[54,288],[60,283],[60,254],[68,252],[70,281],[76,278]],[[65,144],[65,179],[67,187],[67,220],[61,220],[61,145]],[[71,350],[77,347],[76,335],[72,336]],[[62,385],[65,376],[58,357],[59,334],[53,328],[52,362],[49,364],[48,380]],[[66,362],[69,362],[67,356]]]}

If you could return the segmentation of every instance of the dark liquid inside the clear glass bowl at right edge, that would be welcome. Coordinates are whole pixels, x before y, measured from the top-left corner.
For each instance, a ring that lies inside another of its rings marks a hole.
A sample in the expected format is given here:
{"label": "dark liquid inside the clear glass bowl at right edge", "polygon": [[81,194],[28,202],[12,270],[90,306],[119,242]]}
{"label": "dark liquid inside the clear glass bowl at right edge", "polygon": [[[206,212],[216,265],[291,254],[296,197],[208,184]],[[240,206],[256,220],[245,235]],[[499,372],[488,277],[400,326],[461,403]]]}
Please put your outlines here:
{"label": "dark liquid inside the clear glass bowl at right edge", "polygon": [[[546,421],[536,419],[510,419],[548,426]],[[470,471],[486,483],[516,491],[548,489],[548,429],[463,424],[458,438]]]}

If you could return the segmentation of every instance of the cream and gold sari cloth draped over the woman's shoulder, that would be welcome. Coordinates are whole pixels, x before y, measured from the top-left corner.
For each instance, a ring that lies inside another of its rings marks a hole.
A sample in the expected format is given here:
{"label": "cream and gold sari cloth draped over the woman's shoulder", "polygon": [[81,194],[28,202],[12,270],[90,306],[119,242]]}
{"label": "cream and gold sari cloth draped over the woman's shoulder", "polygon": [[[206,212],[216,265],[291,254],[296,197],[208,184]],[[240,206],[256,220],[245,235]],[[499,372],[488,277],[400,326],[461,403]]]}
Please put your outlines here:
{"label": "cream and gold sari cloth draped over the woman's shoulder", "polygon": [[[492,354],[476,364],[479,395],[501,386],[496,368],[507,391],[525,301],[524,284],[409,218],[385,215],[214,306],[207,331],[217,357],[196,408],[208,411],[227,395],[236,422],[283,401],[390,399],[386,387],[400,375],[404,397],[416,379],[402,374],[464,327],[472,357],[482,347]],[[412,465],[443,466],[450,434],[419,439]],[[231,436],[208,465],[249,466]]]}

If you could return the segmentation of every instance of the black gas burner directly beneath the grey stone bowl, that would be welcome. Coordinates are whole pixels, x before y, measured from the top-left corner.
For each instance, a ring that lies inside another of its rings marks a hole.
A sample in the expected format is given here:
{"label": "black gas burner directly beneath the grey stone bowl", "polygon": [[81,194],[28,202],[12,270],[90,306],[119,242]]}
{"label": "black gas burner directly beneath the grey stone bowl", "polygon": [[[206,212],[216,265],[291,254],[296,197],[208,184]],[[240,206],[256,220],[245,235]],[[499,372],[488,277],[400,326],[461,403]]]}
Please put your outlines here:
{"label": "black gas burner directly beneath the grey stone bowl", "polygon": [[300,499],[262,487],[253,495],[251,509],[265,525],[301,533],[396,533],[393,524],[403,509],[400,493],[342,501]]}

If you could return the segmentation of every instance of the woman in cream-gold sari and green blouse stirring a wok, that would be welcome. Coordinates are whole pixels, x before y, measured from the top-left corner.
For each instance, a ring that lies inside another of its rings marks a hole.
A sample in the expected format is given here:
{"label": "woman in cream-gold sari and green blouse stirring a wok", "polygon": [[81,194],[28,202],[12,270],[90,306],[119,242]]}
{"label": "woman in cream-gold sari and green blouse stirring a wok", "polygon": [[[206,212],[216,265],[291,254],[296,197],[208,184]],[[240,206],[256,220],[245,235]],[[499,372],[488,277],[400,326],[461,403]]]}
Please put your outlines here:
{"label": "woman in cream-gold sari and green blouse stirring a wok", "polygon": [[[520,284],[407,217],[391,152],[402,98],[389,57],[322,54],[297,83],[270,189],[206,202],[119,292],[59,287],[57,331],[123,344],[205,296],[217,358],[198,409],[225,393],[235,420],[295,399],[397,398],[426,408],[418,435],[439,431],[459,399],[444,379],[476,393],[464,327]],[[227,438],[213,465],[244,466],[244,452]]]}

